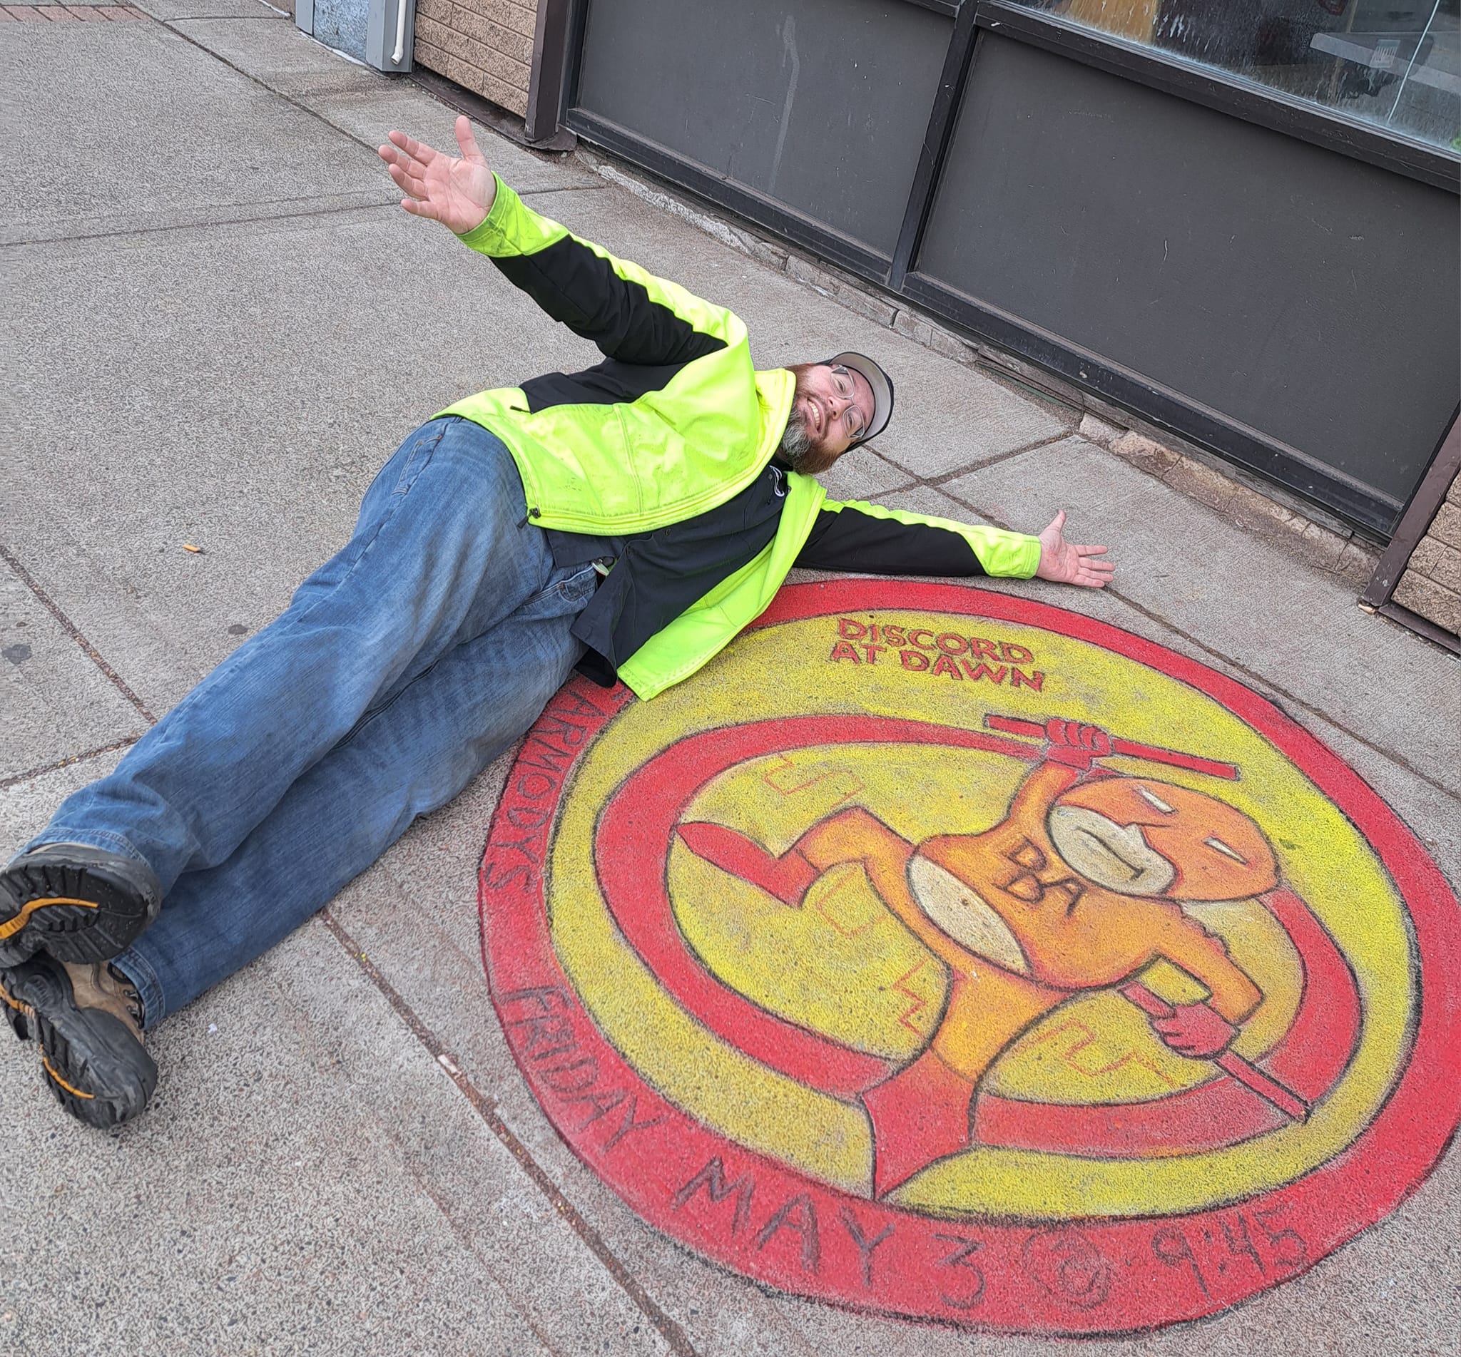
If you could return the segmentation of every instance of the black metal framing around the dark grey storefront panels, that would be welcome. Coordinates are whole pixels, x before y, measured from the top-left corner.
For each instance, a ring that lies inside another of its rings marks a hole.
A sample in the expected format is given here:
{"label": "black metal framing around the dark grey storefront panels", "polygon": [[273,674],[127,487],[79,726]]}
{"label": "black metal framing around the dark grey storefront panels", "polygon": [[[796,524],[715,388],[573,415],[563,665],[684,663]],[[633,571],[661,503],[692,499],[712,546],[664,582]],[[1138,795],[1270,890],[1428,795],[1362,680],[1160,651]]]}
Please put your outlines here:
{"label": "black metal framing around the dark grey storefront panels", "polygon": [[[577,107],[590,3],[592,0],[539,0],[539,31],[543,35],[561,34],[562,56],[554,61],[543,58],[545,69],[557,72],[557,76],[545,79],[539,86],[538,117],[546,117],[557,93],[560,124],[586,142],[809,250],[872,283],[893,301],[912,302],[976,340],[1005,349],[1074,387],[1131,410],[1160,429],[1258,472],[1340,514],[1375,540],[1386,540],[1398,530],[1403,505],[1392,498],[1370,491],[1299,448],[1230,419],[1180,391],[920,273],[918,257],[970,70],[985,34],[1039,47],[1175,98],[1461,194],[1461,165],[1451,156],[1416,139],[1367,127],[1239,76],[1207,72],[1140,44],[1096,35],[1052,15],[1005,0],[901,0],[904,4],[948,15],[954,28],[903,225],[890,256],[766,194],[730,183],[668,146]],[[1424,475],[1422,481],[1424,482]]]}

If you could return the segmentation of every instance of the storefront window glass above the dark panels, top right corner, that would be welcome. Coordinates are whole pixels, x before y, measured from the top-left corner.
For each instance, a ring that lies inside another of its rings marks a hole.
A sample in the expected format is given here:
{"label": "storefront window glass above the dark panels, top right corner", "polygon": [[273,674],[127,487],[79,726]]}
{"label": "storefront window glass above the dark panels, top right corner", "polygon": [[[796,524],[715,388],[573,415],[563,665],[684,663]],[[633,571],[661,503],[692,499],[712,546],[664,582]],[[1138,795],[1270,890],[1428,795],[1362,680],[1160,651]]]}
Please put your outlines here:
{"label": "storefront window glass above the dark panels, top right corner", "polygon": [[1461,0],[1015,0],[1461,153]]}

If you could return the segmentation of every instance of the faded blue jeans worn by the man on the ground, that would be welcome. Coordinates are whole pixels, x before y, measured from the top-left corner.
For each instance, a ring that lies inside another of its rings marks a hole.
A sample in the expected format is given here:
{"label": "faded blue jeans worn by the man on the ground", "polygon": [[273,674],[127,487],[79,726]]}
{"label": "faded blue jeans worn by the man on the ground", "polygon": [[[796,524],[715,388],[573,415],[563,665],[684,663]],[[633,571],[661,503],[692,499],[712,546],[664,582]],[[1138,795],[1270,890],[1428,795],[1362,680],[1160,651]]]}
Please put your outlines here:
{"label": "faded blue jeans worn by the man on the ground", "polygon": [[[150,865],[162,911],[115,966],[150,1027],[298,928],[533,723],[595,586],[527,524],[507,448],[434,419],[345,549],[34,844]],[[34,846],[32,844],[32,846]]]}

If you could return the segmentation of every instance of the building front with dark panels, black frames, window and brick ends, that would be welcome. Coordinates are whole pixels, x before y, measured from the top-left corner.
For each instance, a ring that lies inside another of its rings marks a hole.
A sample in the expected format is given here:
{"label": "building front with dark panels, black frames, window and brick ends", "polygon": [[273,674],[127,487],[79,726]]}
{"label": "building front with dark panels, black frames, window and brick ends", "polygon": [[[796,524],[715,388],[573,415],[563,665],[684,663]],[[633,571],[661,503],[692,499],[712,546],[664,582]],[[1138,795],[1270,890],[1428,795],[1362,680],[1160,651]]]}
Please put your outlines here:
{"label": "building front with dark panels, black frames, window and brick ends", "polygon": [[413,29],[529,143],[568,129],[1376,543],[1435,520],[1391,589],[1454,618],[1461,0],[416,0]]}

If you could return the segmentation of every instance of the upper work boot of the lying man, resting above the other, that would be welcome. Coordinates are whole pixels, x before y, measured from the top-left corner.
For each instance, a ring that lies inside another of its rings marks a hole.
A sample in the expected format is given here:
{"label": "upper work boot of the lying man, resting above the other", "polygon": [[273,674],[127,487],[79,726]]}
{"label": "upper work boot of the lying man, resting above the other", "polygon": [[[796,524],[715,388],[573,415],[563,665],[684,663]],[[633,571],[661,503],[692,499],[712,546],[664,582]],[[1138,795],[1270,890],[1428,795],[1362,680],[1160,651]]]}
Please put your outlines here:
{"label": "upper work boot of the lying man, resting above the other", "polygon": [[0,871],[0,966],[35,952],[105,961],[130,947],[162,906],[156,874],[136,857],[48,843]]}

